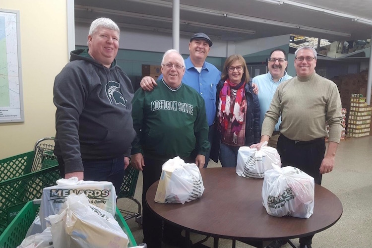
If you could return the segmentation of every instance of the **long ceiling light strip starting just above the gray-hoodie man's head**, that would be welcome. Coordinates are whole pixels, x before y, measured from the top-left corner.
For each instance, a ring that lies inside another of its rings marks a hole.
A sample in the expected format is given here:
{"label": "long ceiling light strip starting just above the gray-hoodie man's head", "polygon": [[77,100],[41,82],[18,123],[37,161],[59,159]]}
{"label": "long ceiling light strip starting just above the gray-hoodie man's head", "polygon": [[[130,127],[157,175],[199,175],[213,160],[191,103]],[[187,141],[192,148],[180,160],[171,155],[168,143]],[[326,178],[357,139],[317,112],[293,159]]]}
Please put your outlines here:
{"label": "long ceiling light strip starting just above the gray-hoodie man's head", "polygon": [[[104,13],[104,14],[116,14],[116,15],[121,15],[121,16],[129,16],[129,17],[141,18],[141,19],[147,19],[147,20],[159,20],[159,21],[172,23],[172,18],[169,18],[169,17],[127,12],[127,11],[114,10],[114,9],[105,9],[105,8],[90,7],[90,6],[84,6],[84,5],[75,5],[75,10],[93,11],[93,12]],[[239,33],[245,33],[245,34],[256,33],[256,31],[249,30],[249,29],[225,27],[225,26],[195,22],[195,21],[187,21],[187,20],[180,20],[180,24],[196,26],[196,27],[208,27],[208,28],[213,28],[213,29],[218,29],[218,30],[239,32]]]}

